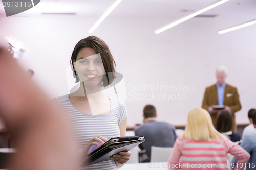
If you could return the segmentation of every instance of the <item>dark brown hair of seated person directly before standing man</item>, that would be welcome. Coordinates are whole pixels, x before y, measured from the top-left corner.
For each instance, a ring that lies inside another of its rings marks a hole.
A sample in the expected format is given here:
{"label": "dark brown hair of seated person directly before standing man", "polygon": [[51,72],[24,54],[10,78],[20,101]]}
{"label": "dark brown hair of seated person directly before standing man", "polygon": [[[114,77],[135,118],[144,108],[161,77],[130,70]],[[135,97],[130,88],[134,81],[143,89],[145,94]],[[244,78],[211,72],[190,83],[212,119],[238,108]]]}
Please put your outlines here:
{"label": "dark brown hair of seated person directly before standing man", "polygon": [[221,111],[217,117],[216,130],[218,132],[228,132],[232,129],[232,116],[228,111]]}

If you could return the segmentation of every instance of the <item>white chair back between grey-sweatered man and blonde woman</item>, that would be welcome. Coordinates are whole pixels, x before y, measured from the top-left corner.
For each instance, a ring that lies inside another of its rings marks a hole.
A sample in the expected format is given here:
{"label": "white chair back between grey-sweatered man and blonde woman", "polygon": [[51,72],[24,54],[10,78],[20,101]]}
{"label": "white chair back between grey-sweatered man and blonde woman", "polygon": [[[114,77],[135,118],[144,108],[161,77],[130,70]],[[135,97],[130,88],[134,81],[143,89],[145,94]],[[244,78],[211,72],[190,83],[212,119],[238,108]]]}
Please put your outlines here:
{"label": "white chair back between grey-sweatered man and blonde woman", "polygon": [[170,154],[172,153],[172,147],[151,147],[150,162],[167,162]]}

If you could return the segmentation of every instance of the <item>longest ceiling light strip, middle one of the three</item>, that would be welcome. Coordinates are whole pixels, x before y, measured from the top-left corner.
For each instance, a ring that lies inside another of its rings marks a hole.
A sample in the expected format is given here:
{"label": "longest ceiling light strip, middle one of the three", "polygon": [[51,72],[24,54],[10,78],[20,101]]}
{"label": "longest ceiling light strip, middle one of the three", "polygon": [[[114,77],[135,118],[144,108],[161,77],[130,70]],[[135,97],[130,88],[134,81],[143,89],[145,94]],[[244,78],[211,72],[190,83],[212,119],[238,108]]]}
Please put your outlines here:
{"label": "longest ceiling light strip, middle one of the three", "polygon": [[200,11],[197,11],[197,12],[191,14],[191,15],[188,15],[188,16],[186,16],[186,17],[180,19],[180,20],[177,20],[177,21],[171,23],[171,24],[168,25],[168,26],[165,26],[165,27],[163,27],[163,28],[161,28],[161,29],[155,31],[155,33],[158,34],[158,33],[161,33],[161,32],[163,32],[163,31],[165,31],[165,30],[167,30],[167,29],[169,29],[169,28],[172,28],[172,27],[174,27],[174,26],[177,26],[179,23],[184,22],[184,21],[186,21],[186,20],[188,20],[188,19],[190,19],[190,18],[193,18],[194,16],[197,16],[197,15],[199,15],[199,14],[205,12],[205,11],[208,11],[208,10],[210,10],[211,8],[217,7],[218,5],[221,5],[221,4],[223,4],[223,3],[227,2],[227,1],[228,1],[228,0],[222,0],[222,1],[219,1],[218,3],[212,4],[212,5],[210,5],[209,7],[206,7],[206,8],[204,8],[204,9],[200,10]]}

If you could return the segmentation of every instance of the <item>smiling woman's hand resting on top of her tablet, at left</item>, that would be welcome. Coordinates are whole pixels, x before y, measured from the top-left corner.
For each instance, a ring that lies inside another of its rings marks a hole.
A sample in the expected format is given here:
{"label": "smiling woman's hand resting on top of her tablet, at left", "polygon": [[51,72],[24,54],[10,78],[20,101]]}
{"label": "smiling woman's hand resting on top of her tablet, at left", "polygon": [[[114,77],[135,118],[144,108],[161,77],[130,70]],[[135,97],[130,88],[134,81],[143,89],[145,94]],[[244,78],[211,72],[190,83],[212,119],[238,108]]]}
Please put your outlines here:
{"label": "smiling woman's hand resting on top of her tablet, at left", "polygon": [[[95,145],[95,149],[99,148],[101,145],[103,145],[106,141],[108,141],[109,139],[103,137],[103,136],[96,136],[91,138],[86,146],[82,149],[82,154],[83,155],[88,155],[90,153],[88,153],[88,151],[90,150],[90,148]],[[94,149],[94,150],[95,150]],[[91,151],[92,152],[92,151]]]}

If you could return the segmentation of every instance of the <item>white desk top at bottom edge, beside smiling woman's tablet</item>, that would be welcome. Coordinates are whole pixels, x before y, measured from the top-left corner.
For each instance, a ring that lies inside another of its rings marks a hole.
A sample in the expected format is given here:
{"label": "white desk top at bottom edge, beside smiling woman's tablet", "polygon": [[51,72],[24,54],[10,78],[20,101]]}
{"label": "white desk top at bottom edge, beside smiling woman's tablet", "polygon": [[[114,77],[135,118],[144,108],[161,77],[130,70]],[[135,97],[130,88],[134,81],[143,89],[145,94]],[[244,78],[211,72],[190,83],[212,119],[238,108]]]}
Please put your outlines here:
{"label": "white desk top at bottom edge, beside smiling woman's tablet", "polygon": [[152,170],[167,170],[168,169],[168,163],[167,162],[156,162],[156,163],[128,163],[124,164],[123,167],[120,168],[120,170],[146,170],[146,169],[152,169]]}

